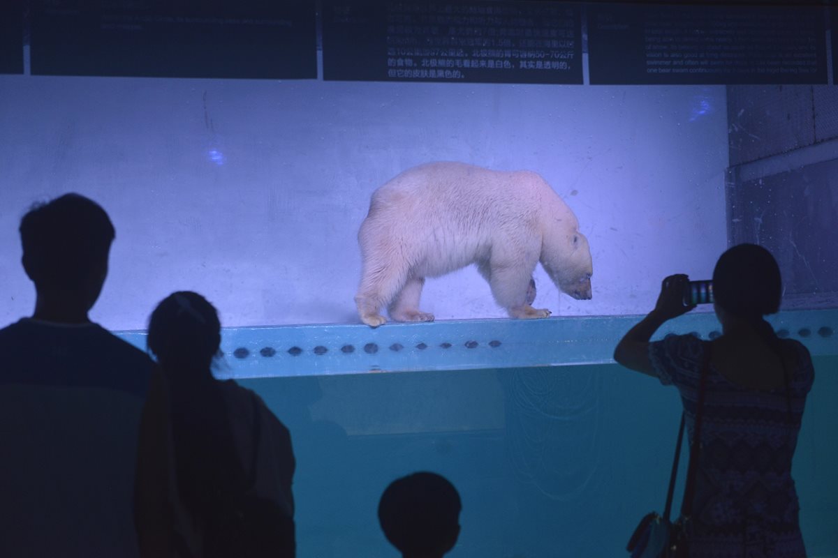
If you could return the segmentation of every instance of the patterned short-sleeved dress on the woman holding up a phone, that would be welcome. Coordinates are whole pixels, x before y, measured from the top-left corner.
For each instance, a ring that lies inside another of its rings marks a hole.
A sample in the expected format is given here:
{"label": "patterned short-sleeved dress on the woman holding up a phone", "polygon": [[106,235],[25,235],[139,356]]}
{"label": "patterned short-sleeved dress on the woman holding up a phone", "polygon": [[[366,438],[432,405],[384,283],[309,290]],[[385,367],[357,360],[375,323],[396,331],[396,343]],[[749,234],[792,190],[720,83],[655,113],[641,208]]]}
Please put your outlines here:
{"label": "patterned short-sleeved dress on the woman holding up a phone", "polygon": [[[796,366],[788,371],[788,391],[748,389],[710,366],[691,556],[805,558],[791,463],[815,372],[802,344],[783,342],[797,351]],[[705,350],[706,344],[694,335],[667,335],[649,345],[649,359],[661,383],[680,392],[690,440]]]}

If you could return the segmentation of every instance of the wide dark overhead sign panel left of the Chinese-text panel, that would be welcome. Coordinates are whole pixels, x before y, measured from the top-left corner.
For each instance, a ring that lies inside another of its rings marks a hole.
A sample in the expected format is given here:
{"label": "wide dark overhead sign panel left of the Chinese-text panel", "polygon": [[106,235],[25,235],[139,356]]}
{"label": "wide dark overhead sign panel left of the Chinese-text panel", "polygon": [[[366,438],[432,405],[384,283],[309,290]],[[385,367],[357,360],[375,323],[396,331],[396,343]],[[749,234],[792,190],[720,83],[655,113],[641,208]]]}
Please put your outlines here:
{"label": "wide dark overhead sign panel left of the Chinese-text panel", "polygon": [[33,0],[32,74],[317,78],[309,0]]}

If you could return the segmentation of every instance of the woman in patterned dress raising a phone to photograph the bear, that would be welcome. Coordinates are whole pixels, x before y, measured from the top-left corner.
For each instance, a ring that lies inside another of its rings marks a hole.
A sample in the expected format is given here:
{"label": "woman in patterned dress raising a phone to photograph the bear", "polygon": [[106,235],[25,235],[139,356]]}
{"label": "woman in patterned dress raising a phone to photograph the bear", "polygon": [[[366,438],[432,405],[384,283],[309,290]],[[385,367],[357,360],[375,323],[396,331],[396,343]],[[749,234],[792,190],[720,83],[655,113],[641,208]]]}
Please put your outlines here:
{"label": "woman in patterned dress raising a phone to photograph the bear", "polygon": [[722,335],[649,342],[694,308],[683,302],[687,282],[664,279],[654,310],[620,340],[614,360],[678,388],[691,448],[706,371],[692,505],[682,510],[689,555],[804,558],[791,465],[814,371],[809,351],[764,320],[779,310],[777,262],[754,244],[727,250],[713,272]]}

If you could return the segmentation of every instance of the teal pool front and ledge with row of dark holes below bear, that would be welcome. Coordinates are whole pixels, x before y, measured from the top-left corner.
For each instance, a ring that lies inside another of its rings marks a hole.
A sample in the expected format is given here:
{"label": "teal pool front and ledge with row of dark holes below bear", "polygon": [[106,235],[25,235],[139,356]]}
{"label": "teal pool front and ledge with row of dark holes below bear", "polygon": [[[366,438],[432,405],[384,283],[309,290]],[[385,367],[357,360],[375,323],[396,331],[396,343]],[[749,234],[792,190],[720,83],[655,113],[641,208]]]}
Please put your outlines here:
{"label": "teal pool front and ledge with row of dark holes below bear", "polygon": [[[259,392],[292,432],[301,557],[396,556],[376,506],[417,470],[462,496],[453,558],[620,556],[639,518],[663,508],[680,413],[675,389],[611,360],[636,320],[225,330],[219,375]],[[809,555],[838,556],[838,312],[772,323],[815,359],[794,477]],[[693,314],[660,335],[717,328]]]}

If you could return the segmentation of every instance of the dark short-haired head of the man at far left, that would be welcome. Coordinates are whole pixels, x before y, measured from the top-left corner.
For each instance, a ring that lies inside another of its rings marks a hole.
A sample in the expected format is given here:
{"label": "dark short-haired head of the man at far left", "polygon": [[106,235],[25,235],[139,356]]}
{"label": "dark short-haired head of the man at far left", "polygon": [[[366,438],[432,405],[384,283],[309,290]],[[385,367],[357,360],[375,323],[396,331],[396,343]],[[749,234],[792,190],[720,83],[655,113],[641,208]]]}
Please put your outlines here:
{"label": "dark short-haired head of the man at far left", "polygon": [[90,310],[107,275],[116,233],[104,209],[79,194],[34,206],[20,221],[23,269],[39,294],[78,297]]}

